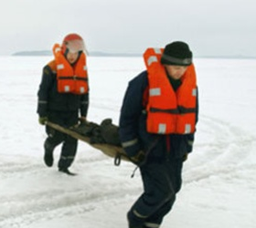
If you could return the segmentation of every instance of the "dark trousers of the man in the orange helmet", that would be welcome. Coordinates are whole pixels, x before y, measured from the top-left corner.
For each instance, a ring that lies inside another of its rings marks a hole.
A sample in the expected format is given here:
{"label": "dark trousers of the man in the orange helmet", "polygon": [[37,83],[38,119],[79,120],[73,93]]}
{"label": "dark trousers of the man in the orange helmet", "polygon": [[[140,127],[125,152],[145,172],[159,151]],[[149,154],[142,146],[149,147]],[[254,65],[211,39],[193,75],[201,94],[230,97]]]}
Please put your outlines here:
{"label": "dark trousers of the man in the orange helmet", "polygon": [[[69,128],[78,123],[78,111],[51,111],[48,115],[48,120],[64,128]],[[62,143],[58,167],[61,169],[69,168],[76,156],[78,140],[48,126],[46,127],[46,132],[48,138],[45,141],[45,148],[54,150]]]}

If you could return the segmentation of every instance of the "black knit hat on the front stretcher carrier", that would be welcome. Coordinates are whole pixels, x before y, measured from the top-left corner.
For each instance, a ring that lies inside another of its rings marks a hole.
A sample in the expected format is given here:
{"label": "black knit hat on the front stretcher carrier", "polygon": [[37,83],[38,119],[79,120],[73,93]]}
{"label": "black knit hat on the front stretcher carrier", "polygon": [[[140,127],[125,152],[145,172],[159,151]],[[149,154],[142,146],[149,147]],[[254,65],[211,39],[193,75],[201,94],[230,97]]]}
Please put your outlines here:
{"label": "black knit hat on the front stretcher carrier", "polygon": [[192,52],[186,43],[175,41],[165,46],[161,63],[165,65],[189,66],[192,63]]}

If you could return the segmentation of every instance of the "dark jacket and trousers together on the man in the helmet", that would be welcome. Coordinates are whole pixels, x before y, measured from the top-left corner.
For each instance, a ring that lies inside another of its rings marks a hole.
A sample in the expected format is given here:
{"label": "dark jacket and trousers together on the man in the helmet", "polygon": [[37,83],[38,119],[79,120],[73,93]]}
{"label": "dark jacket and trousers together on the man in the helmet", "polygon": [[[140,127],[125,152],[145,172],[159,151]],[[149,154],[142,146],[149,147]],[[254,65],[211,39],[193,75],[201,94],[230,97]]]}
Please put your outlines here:
{"label": "dark jacket and trousers together on the man in the helmet", "polygon": [[[80,116],[86,117],[89,106],[89,94],[76,95],[59,93],[57,88],[57,74],[48,65],[43,68],[42,80],[37,92],[37,113],[39,117],[48,117],[48,120],[69,128],[79,121]],[[62,144],[59,169],[68,169],[74,161],[78,140],[71,136],[46,127],[48,138],[44,146],[46,150],[54,150]]]}

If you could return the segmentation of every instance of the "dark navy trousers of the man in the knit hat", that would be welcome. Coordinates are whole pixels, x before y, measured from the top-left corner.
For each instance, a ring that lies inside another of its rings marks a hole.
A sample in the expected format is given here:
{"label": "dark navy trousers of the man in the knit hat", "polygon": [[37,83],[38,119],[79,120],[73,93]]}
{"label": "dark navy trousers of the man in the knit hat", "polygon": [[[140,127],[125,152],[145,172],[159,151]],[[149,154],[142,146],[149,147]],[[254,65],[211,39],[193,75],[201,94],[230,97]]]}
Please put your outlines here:
{"label": "dark navy trousers of the man in the knit hat", "polygon": [[130,227],[158,227],[176,201],[182,184],[182,159],[148,163],[140,170],[144,192],[128,212]]}

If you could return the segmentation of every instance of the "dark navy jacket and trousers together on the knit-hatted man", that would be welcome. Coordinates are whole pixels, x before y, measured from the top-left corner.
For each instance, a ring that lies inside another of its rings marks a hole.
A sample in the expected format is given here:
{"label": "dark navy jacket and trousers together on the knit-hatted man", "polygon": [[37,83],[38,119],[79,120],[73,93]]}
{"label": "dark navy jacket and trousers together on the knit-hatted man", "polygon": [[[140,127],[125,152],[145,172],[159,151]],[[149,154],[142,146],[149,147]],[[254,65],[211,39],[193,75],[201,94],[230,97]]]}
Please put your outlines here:
{"label": "dark navy jacket and trousers together on the knit-hatted man", "polygon": [[[169,81],[174,90],[181,85],[180,80],[169,78]],[[194,133],[160,135],[146,131],[147,90],[147,71],[144,71],[129,82],[119,123],[127,155],[133,157],[139,150],[146,153],[146,161],[140,166],[144,192],[127,214],[130,228],[160,226],[176,201],[176,192],[182,184],[183,161],[192,151],[194,141]]]}

